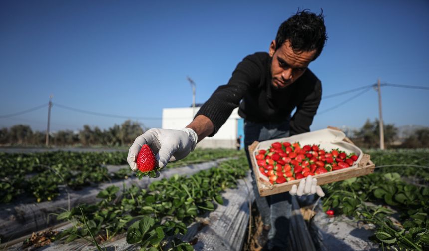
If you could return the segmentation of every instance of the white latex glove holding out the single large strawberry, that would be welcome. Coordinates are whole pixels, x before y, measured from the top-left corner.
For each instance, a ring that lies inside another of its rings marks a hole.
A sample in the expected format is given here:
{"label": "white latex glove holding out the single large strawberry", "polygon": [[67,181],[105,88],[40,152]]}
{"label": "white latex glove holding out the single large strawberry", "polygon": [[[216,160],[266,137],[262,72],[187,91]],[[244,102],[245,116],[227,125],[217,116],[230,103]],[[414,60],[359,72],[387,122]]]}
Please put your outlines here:
{"label": "white latex glove holding out the single large strawberry", "polygon": [[197,133],[191,128],[180,130],[149,129],[134,140],[128,151],[127,161],[131,170],[137,171],[136,159],[144,144],[148,144],[156,155],[159,169],[169,161],[183,159],[195,149]]}

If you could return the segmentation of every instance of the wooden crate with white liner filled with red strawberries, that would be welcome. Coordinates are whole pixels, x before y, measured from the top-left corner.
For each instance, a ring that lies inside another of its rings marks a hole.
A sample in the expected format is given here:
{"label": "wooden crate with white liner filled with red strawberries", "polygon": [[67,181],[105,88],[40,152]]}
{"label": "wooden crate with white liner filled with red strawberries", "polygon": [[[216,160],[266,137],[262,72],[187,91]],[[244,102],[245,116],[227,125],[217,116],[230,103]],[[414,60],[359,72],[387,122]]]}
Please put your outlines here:
{"label": "wooden crate with white liner filled with red strawberries", "polygon": [[339,129],[328,127],[249,146],[261,196],[289,191],[309,175],[327,184],[374,172],[370,156]]}

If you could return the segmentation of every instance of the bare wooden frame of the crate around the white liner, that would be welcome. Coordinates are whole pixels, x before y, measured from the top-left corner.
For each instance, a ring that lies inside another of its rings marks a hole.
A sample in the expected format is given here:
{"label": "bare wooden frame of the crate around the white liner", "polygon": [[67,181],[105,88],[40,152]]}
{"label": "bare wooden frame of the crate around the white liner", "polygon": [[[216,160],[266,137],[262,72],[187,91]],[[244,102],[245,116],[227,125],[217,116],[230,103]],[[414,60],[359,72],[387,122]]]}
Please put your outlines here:
{"label": "bare wooden frame of the crate around the white liner", "polygon": [[[330,126],[328,128],[340,130],[338,128],[330,127]],[[343,141],[354,144],[347,137],[344,138]],[[258,141],[254,141],[253,144],[249,145],[248,148],[249,148],[250,154],[253,154],[253,152],[256,149],[256,147],[258,146],[258,144],[259,144]],[[259,194],[261,196],[268,196],[268,195],[272,195],[272,194],[288,192],[292,189],[293,185],[298,185],[299,182],[301,181],[301,180],[293,180],[293,181],[285,182],[282,184],[273,185],[273,184],[269,183],[268,181],[266,181],[262,177],[262,174],[260,173],[259,168],[258,168],[257,164],[255,163],[254,158],[252,158],[252,156],[250,156],[250,157],[251,157],[250,159],[252,162],[253,172],[254,172],[255,178],[256,178],[256,184],[258,186]],[[332,171],[332,172],[328,172],[328,173],[324,173],[324,174],[319,174],[319,175],[316,175],[314,177],[317,178],[317,184],[318,185],[323,185],[323,184],[328,184],[328,183],[332,183],[335,181],[346,180],[346,179],[350,179],[353,177],[359,177],[359,176],[363,176],[363,175],[373,173],[374,167],[375,167],[375,165],[370,160],[370,155],[364,153],[357,166],[344,168],[344,169],[340,169],[340,170],[336,170],[336,171]]]}

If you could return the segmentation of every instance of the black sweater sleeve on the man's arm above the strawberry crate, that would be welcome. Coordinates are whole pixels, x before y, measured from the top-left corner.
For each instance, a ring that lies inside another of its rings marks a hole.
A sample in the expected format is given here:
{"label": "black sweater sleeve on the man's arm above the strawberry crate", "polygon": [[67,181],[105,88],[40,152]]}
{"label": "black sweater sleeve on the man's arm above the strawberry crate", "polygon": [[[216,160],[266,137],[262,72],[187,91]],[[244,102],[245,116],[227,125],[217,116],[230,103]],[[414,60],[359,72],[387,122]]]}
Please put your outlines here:
{"label": "black sweater sleeve on the man's arm above the strawberry crate", "polygon": [[313,123],[313,118],[316,115],[321,99],[322,83],[318,80],[313,92],[307,95],[296,107],[296,112],[290,120],[291,136],[310,131],[310,125]]}

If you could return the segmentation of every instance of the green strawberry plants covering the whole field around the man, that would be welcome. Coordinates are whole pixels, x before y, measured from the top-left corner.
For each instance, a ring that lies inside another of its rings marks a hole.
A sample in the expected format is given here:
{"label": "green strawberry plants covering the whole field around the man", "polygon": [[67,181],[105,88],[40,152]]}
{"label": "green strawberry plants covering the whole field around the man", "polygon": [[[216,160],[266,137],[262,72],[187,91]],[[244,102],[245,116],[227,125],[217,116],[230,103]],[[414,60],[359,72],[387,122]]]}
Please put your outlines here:
{"label": "green strawberry plants covering the whole field around the man", "polygon": [[[348,219],[371,226],[371,236],[365,241],[381,250],[428,250],[429,150],[364,152],[376,164],[374,174],[323,185],[326,196],[318,203],[323,210],[317,214],[333,222]],[[115,246],[116,250],[202,250],[196,243],[201,244],[198,240],[203,238],[192,234],[202,227],[192,230],[190,235],[191,226],[215,213],[222,204],[233,207],[225,200],[224,191],[241,184],[239,180],[248,176],[249,171],[242,151],[197,150],[183,161],[170,163],[167,166],[170,168],[161,172],[171,173],[166,178],[144,177],[138,181],[146,182],[142,188],[139,183],[121,183],[132,177],[125,152],[0,154],[0,157],[3,208],[27,201],[51,205],[62,198],[58,195],[61,186],[86,191],[88,187],[105,184],[102,190],[97,190],[96,201],[63,207],[51,215],[61,227],[21,240],[14,244],[14,250],[35,250],[43,245],[48,245],[45,250],[74,250],[84,246],[90,247],[87,250],[104,250],[118,242],[122,248]],[[184,165],[224,157],[238,158],[192,175],[173,172]],[[112,180],[120,182],[110,185]],[[57,190],[51,189],[54,187]],[[333,215],[327,215],[328,210]],[[317,220],[310,218],[309,226]],[[240,235],[244,239],[244,234]],[[4,243],[3,237],[1,240]]]}

